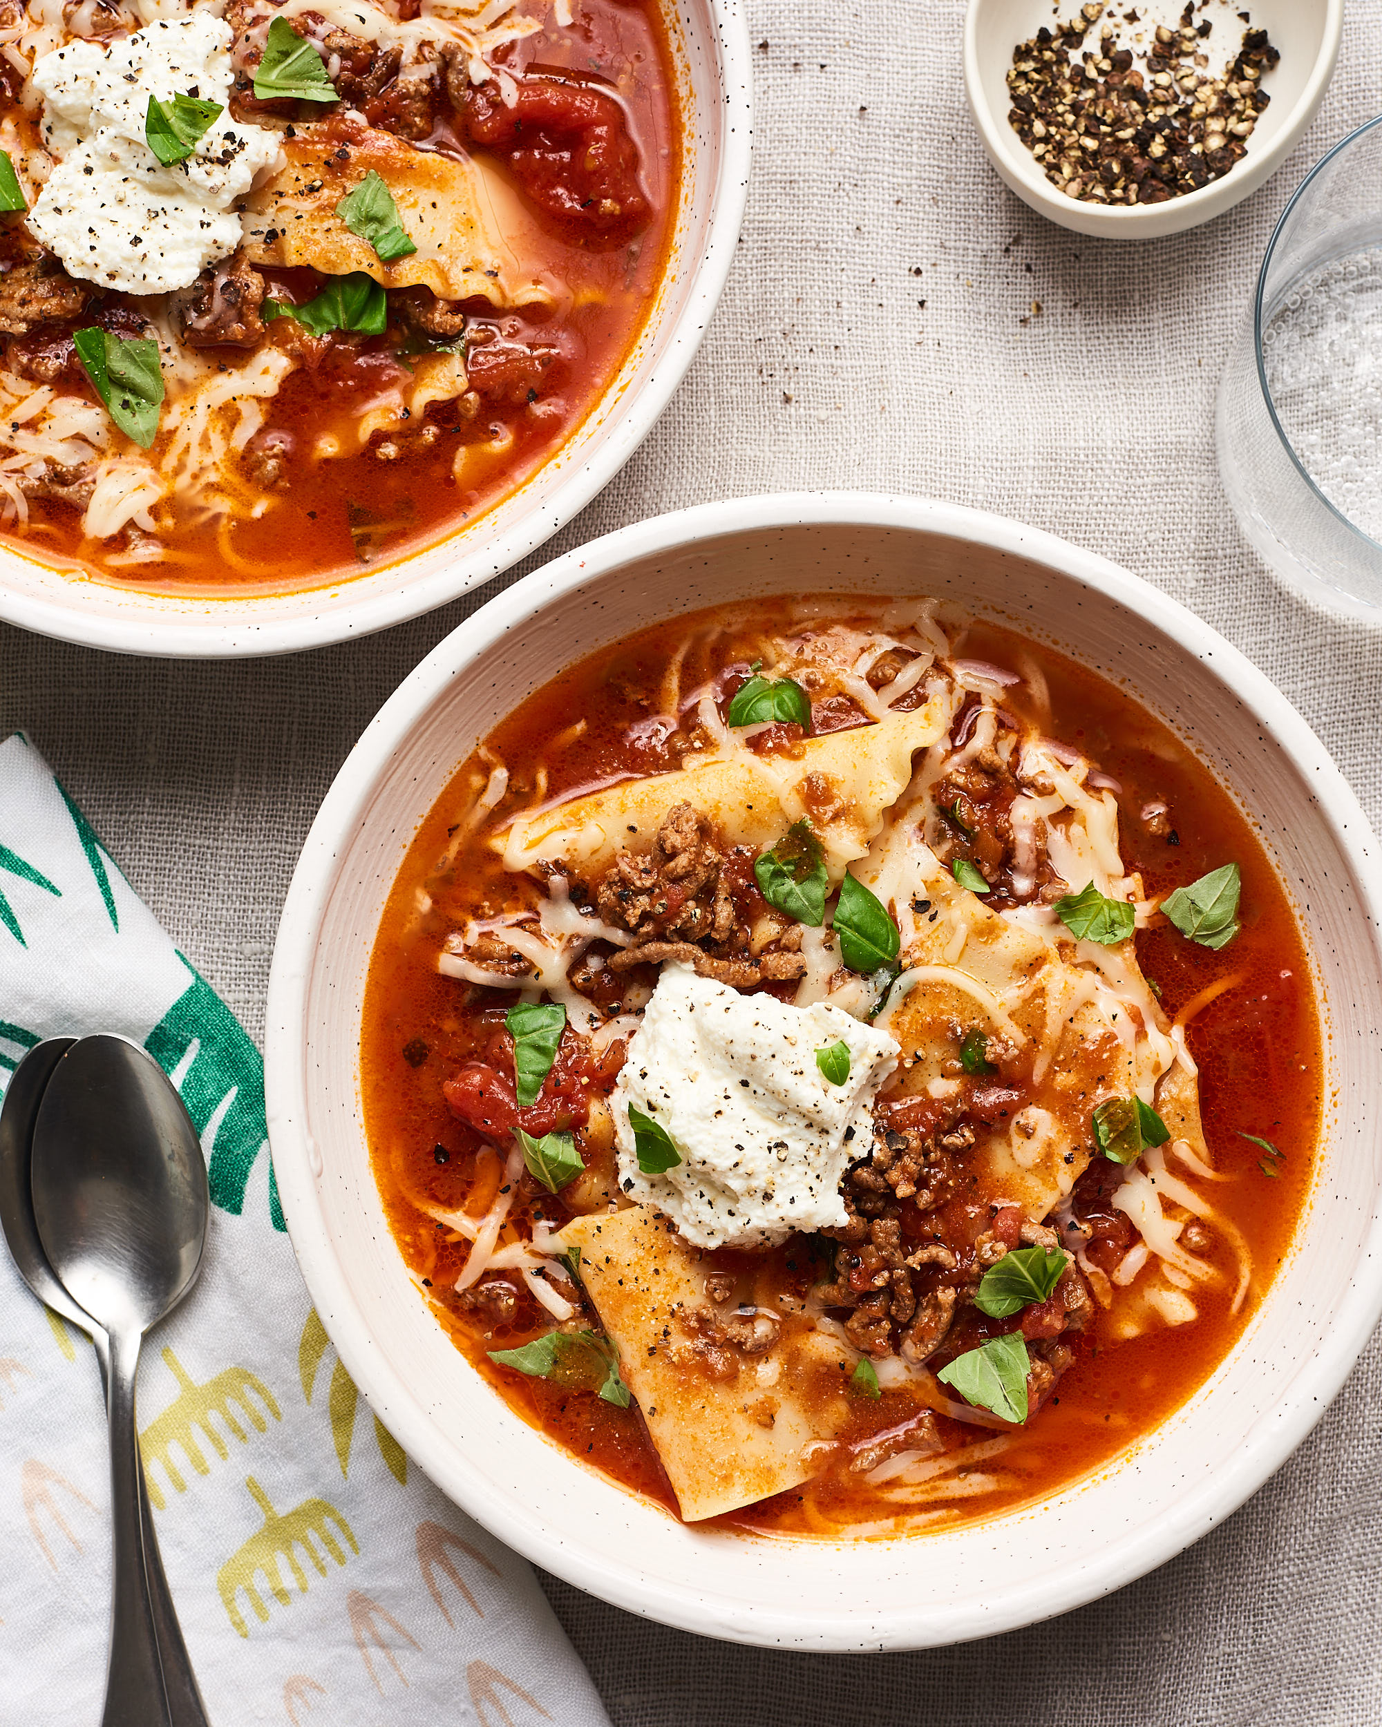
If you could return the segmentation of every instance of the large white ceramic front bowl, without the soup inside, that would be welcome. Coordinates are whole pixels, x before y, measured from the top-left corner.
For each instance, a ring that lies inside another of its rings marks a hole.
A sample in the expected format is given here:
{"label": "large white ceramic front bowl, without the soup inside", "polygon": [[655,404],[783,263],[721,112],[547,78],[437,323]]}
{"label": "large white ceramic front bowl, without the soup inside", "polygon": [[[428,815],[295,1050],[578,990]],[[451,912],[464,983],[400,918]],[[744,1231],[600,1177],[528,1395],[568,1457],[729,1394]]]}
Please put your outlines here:
{"label": "large white ceramic front bowl, without the soup inside", "polygon": [[[432,1319],[361,1133],[361,995],[418,822],[477,737],[580,655],[762,594],[943,594],[1123,680],[1261,822],[1328,1005],[1334,1098],[1303,1237],[1213,1380],[1121,1463],[990,1523],[855,1546],[688,1528],[513,1416]],[[757,497],[624,528],[449,636],[373,720],[294,876],[268,1005],[268,1114],[302,1273],[340,1359],[411,1458],[520,1553],[634,1613],[807,1649],[1026,1625],[1130,1582],[1225,1518],[1320,1420],[1382,1306],[1380,881],[1334,763],[1237,649],[1049,534],[867,494]]]}

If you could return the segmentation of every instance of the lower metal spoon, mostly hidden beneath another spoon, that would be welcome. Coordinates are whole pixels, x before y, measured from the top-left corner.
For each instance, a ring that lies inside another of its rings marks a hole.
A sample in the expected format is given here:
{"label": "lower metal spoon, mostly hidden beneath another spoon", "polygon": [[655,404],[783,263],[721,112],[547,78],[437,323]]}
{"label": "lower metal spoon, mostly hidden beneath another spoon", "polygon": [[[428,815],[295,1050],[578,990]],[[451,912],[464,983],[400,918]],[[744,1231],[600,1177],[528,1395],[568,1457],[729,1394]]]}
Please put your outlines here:
{"label": "lower metal spoon, mostly hidden beneath another spoon", "polygon": [[[19,1275],[33,1294],[54,1313],[92,1335],[100,1364],[102,1394],[111,1378],[111,1344],[88,1313],[73,1300],[54,1276],[54,1269],[38,1240],[33,1219],[33,1192],[29,1188],[29,1157],[33,1152],[33,1124],[38,1105],[59,1060],[76,1043],[76,1038],[48,1038],[36,1045],[16,1067],[14,1078],[0,1107],[0,1228],[5,1231],[10,1256]],[[140,1534],[143,1537],[143,1572],[149,1578],[149,1599],[154,1610],[154,1630],[159,1641],[162,1686],[173,1727],[207,1727],[206,1705],[192,1672],[183,1629],[173,1606],[173,1594],[162,1570],[159,1539],[154,1534],[154,1515],[140,1471]]]}

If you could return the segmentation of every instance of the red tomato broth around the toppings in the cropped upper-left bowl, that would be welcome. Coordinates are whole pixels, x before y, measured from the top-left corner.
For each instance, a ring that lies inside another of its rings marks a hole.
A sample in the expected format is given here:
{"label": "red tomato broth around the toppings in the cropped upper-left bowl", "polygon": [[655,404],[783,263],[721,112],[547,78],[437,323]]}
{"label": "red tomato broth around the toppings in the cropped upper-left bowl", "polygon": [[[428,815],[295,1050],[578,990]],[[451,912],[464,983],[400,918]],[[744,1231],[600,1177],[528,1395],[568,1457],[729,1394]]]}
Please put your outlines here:
{"label": "red tomato broth around the toppings in the cropped upper-left bowl", "polygon": [[[166,560],[112,561],[123,537],[83,539],[81,508],[35,503],[28,530],[0,530],[0,542],[43,563],[74,573],[98,575],[149,592],[214,594],[216,591],[285,592],[349,580],[378,572],[472,528],[480,516],[529,482],[575,435],[617,378],[643,332],[670,259],[681,181],[681,114],[669,31],[658,0],[579,0],[575,21],[546,28],[496,52],[496,64],[534,78],[574,74],[593,92],[608,90],[627,121],[637,152],[637,181],[646,193],[648,221],[617,247],[587,245],[568,226],[544,219],[541,264],[568,283],[565,311],[544,307],[496,311],[487,300],[460,302],[496,333],[494,349],[518,351],[508,371],[494,370],[489,347],[470,351],[472,389],[480,394],[473,418],[458,401],[430,404],[428,425],[441,433],[430,447],[399,439],[399,456],[380,459],[377,449],[389,433],[375,433],[358,454],[318,458],[314,444],[335,435],[356,442],[361,404],[377,394],[387,375],[397,375],[390,345],[382,337],[342,340],[318,371],[292,371],[266,402],[266,435],[287,433],[294,452],[288,487],[268,494],[273,508],[254,518],[237,513],[197,522],[195,513],[154,508]],[[544,14],[546,16],[546,14]],[[608,100],[608,98],[603,98]],[[387,123],[385,123],[387,124]],[[465,155],[451,124],[439,126],[430,149]],[[496,171],[523,190],[503,154],[484,150]],[[325,278],[314,271],[264,271],[269,295],[278,282]],[[311,285],[297,294],[306,299]],[[109,297],[114,304],[117,295]],[[136,304],[136,302],[135,302]],[[90,321],[90,319],[88,319]],[[283,325],[269,325],[269,342],[283,342]],[[551,351],[549,364],[523,364],[530,347]],[[231,359],[238,357],[238,351]],[[97,401],[85,376],[66,385]],[[465,484],[453,471],[463,446],[508,439],[501,451],[484,449],[466,463]],[[157,454],[157,449],[155,449]]]}

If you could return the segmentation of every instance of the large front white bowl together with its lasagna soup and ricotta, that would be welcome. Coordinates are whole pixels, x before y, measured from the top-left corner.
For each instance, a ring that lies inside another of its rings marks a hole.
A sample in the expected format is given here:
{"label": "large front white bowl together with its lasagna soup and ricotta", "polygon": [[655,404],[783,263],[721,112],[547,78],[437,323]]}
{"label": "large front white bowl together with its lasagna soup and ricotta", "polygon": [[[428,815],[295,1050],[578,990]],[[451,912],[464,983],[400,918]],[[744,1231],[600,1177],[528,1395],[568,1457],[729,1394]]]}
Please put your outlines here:
{"label": "large front white bowl together with its lasagna soup and ricotta", "polygon": [[494,599],[347,760],[278,1190],[404,1449],[631,1611],[1064,1611],[1235,1509],[1379,1311],[1377,862],[1228,642],[976,511],[765,497]]}

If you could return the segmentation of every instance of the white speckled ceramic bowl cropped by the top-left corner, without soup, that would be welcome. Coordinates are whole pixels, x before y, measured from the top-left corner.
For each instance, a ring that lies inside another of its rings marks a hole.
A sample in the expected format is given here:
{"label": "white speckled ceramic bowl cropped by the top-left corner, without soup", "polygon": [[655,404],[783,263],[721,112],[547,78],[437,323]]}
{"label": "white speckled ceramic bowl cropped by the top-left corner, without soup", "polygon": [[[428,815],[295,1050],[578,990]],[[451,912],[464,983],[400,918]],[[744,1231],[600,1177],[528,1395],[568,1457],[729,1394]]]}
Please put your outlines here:
{"label": "white speckled ceramic bowl cropped by the top-left corner, without soup", "polygon": [[681,209],[639,340],[575,435],[473,527],[403,563],[325,587],[235,598],[142,594],[0,547],[0,618],[116,653],[292,653],[446,604],[529,553],[618,473],[686,375],[739,237],[750,159],[743,0],[663,0],[682,112]]}

